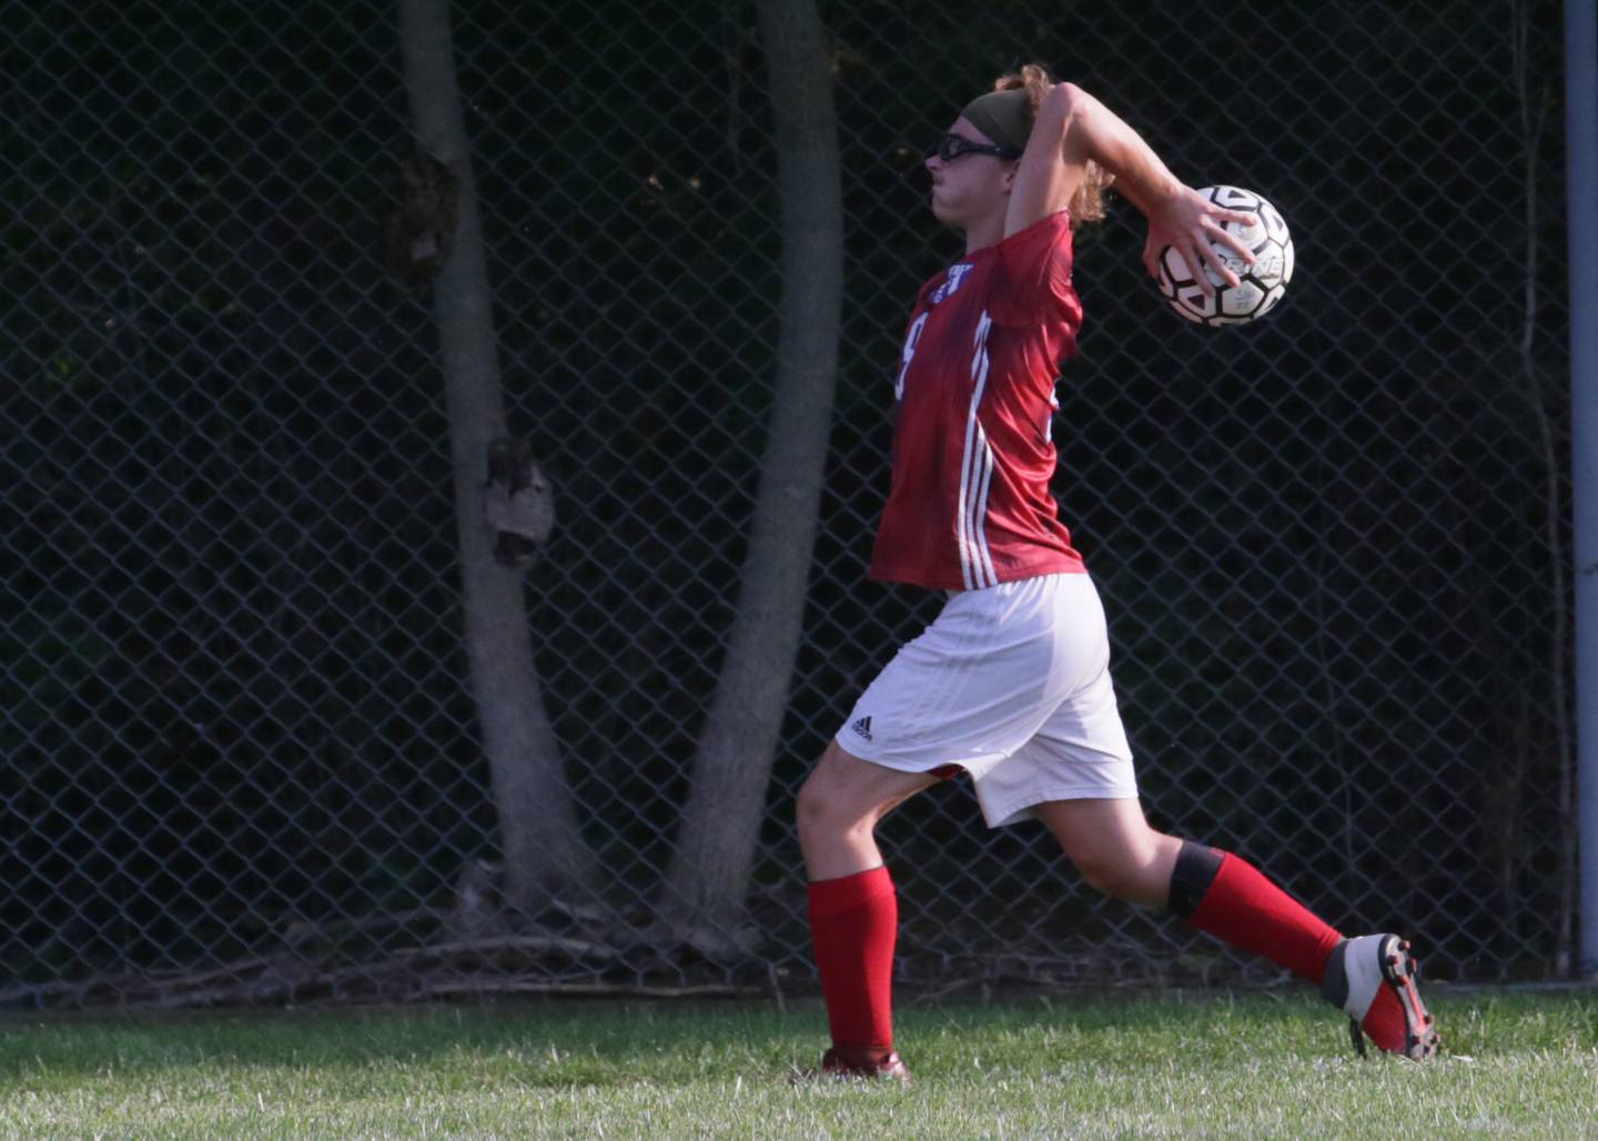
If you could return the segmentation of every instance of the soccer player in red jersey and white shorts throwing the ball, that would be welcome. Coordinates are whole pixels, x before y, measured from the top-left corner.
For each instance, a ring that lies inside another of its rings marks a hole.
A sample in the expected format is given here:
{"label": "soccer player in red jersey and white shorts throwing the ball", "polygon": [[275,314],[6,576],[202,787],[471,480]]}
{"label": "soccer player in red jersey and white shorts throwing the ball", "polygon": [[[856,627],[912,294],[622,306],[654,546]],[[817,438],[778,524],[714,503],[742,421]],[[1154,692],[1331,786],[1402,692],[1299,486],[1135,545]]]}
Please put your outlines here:
{"label": "soccer player in red jersey and white shorts throwing the ball", "polygon": [[1221,222],[1127,123],[1024,67],[973,99],[925,161],[965,256],[927,281],[896,366],[893,475],[871,577],[944,591],[936,620],[860,697],[799,789],[809,917],[833,1045],[821,1072],[908,1080],[893,1048],[898,904],[874,829],[964,770],[989,826],[1039,818],[1096,890],[1165,908],[1315,983],[1355,1047],[1421,1060],[1438,1036],[1397,935],[1344,938],[1248,861],[1144,820],[1109,676],[1104,612],[1048,492],[1058,363],[1082,307],[1071,227],[1117,190],[1175,246],[1235,275]]}

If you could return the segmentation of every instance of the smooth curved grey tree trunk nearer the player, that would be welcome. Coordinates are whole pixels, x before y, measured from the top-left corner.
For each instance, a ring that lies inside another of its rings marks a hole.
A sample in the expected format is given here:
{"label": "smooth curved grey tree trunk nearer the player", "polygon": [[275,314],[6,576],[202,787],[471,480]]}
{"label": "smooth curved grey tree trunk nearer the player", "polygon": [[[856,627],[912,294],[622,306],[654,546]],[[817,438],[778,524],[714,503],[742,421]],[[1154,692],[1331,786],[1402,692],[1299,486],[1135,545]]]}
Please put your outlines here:
{"label": "smooth curved grey tree trunk nearer the player", "polygon": [[710,952],[737,925],[799,647],[833,415],[844,214],[833,74],[813,0],[762,0],[783,227],[781,334],[737,617],[666,871],[662,916]]}

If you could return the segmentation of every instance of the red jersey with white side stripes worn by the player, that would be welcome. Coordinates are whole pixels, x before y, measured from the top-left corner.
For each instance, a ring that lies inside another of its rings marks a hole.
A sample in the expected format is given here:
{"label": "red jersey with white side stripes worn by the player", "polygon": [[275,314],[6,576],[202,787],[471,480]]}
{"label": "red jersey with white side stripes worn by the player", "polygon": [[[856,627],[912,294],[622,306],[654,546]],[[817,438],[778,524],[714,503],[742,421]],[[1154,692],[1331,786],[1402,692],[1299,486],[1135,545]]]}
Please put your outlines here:
{"label": "red jersey with white side stripes worn by the player", "polygon": [[1063,211],[920,288],[873,578],[980,590],[1083,570],[1048,492],[1055,379],[1080,328]]}

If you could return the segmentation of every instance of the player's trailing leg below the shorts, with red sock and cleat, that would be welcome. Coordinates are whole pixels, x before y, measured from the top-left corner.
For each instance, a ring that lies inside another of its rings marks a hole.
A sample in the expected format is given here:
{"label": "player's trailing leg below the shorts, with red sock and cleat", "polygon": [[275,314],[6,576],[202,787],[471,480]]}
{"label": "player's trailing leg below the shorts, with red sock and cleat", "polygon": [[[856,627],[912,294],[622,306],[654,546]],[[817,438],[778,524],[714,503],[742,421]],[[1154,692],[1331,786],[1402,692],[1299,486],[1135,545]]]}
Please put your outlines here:
{"label": "player's trailing leg below the shorts, with red sock and cleat", "polygon": [[1365,1037],[1416,1061],[1437,1053],[1416,962],[1397,935],[1346,940],[1246,860],[1149,828],[1138,801],[1055,801],[1037,813],[1090,887],[1167,908],[1320,986],[1352,1018],[1360,1053]]}

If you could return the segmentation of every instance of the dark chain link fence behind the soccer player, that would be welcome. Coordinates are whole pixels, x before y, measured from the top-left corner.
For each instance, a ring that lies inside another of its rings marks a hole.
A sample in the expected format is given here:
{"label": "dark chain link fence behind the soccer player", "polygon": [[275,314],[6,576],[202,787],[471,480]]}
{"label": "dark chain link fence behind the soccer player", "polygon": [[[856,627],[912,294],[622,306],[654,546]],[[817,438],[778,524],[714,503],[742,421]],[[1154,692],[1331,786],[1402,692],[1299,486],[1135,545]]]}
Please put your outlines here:
{"label": "dark chain link fence behind the soccer player", "polygon": [[[1034,59],[1298,245],[1270,318],[1208,331],[1130,206],[1079,235],[1056,492],[1151,820],[1413,933],[1433,976],[1569,972],[1558,5],[820,6],[844,337],[737,956],[655,900],[772,414],[757,11],[454,5],[508,423],[556,495],[524,698],[598,873],[515,914],[431,297],[385,245],[396,6],[0,10],[0,1000],[809,986],[793,793],[936,606],[865,580],[904,315],[960,252],[919,161]],[[1275,978],[1096,900],[964,785],[882,841],[906,983]]]}

